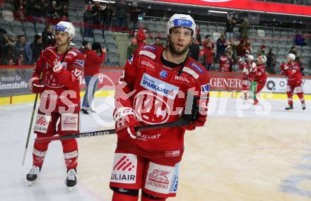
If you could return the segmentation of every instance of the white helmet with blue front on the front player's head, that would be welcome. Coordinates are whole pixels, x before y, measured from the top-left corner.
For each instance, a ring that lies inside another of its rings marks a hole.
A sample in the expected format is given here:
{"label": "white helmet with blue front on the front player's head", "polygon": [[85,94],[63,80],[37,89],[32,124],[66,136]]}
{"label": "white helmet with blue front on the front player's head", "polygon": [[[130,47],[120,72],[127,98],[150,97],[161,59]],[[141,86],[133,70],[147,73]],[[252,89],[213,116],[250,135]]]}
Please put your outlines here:
{"label": "white helmet with blue front on the front player's head", "polygon": [[170,20],[168,20],[168,24],[166,25],[166,34],[170,35],[170,29],[178,27],[191,29],[193,32],[192,38],[196,39],[196,23],[194,23],[192,16],[174,14],[172,17],[170,17]]}

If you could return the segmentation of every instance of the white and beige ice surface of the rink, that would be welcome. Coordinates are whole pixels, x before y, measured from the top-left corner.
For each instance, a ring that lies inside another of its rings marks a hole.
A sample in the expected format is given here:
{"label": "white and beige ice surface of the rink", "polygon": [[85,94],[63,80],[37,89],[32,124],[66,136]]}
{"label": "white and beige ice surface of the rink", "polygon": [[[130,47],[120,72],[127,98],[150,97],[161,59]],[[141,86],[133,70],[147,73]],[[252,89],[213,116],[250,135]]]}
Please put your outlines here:
{"label": "white and beige ice surface of the rink", "polygon": [[[295,171],[311,176],[310,170],[295,169],[311,163],[311,157],[304,158],[311,154],[311,102],[306,105],[303,111],[294,102],[293,111],[284,111],[286,100],[253,106],[241,99],[211,98],[206,127],[185,136],[180,189],[169,200],[310,200],[310,179],[298,190],[283,183],[295,178]],[[112,97],[96,98],[95,107],[97,113],[81,115],[81,131],[113,127]],[[25,165],[21,162],[32,109],[33,104],[0,107],[0,200],[111,200],[116,135],[78,139],[78,185],[71,193],[64,184],[60,142],[50,143],[40,177],[28,187],[33,133]]]}

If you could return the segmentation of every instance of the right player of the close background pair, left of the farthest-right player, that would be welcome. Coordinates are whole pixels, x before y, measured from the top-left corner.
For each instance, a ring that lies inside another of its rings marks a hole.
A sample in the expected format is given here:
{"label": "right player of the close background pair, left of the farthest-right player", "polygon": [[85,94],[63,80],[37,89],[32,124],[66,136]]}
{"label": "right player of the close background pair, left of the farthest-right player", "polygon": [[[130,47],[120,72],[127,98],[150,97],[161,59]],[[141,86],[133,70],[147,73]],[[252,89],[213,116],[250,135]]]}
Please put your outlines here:
{"label": "right player of the close background pair, left of the farthest-right player", "polygon": [[259,56],[256,60],[256,68],[254,68],[253,82],[256,82],[256,87],[253,91],[254,104],[258,104],[258,93],[264,88],[264,85],[266,85],[266,66],[264,66],[264,63],[266,63],[266,56]]}

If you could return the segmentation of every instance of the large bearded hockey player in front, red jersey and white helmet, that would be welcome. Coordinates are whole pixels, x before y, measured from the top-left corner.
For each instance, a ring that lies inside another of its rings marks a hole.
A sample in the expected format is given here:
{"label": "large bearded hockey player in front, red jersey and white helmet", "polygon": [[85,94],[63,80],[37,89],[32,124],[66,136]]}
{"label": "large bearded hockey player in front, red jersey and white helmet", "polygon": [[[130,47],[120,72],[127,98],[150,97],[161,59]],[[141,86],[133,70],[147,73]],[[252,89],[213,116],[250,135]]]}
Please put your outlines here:
{"label": "large bearded hockey player in front, red jersey and white helmet", "polygon": [[[164,201],[177,191],[185,130],[204,126],[209,75],[187,56],[196,38],[189,15],[168,21],[166,47],[144,46],[128,59],[115,94],[117,149],[112,166],[112,201]],[[136,132],[135,126],[177,121],[192,92],[199,114],[189,126]]]}

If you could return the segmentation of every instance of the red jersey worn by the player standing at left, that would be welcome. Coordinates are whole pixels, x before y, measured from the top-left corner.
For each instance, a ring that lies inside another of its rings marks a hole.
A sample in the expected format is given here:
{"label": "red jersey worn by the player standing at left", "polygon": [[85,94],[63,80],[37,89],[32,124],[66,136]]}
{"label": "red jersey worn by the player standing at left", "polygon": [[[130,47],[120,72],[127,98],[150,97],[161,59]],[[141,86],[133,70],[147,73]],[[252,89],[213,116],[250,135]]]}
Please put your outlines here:
{"label": "red jersey worn by the player standing at left", "polygon": [[[49,47],[57,54],[57,47]],[[59,61],[62,61],[65,54],[57,54]],[[42,72],[42,82],[45,84],[45,92],[41,94],[40,104],[47,104],[49,108],[55,105],[54,111],[58,111],[59,106],[71,106],[75,110],[80,110],[80,86],[79,76],[84,67],[84,55],[76,48],[69,49],[61,65],[64,71],[53,73],[45,61],[42,61],[42,53],[33,69],[32,78],[40,78]],[[43,62],[43,66],[42,66]],[[49,90],[49,92],[47,92]],[[42,101],[46,100],[46,101]]]}

